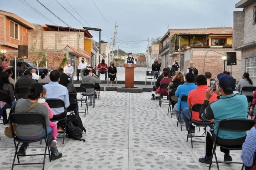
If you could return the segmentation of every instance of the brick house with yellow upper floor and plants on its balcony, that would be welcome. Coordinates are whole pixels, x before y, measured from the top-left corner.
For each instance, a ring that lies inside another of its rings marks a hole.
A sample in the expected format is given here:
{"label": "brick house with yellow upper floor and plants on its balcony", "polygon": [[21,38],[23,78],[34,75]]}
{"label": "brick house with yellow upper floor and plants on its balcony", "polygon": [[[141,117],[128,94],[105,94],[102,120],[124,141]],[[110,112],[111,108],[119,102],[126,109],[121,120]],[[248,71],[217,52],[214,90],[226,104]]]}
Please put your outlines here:
{"label": "brick house with yellow upper floor and plants on its balcony", "polygon": [[[194,63],[199,74],[210,71],[213,77],[217,77],[224,71],[222,56],[234,51],[232,33],[232,27],[168,30],[159,44],[161,69],[178,60],[182,73]],[[237,80],[241,77],[240,64],[241,51],[237,51],[237,65],[232,66],[232,76]],[[225,71],[231,71],[226,62]]]}

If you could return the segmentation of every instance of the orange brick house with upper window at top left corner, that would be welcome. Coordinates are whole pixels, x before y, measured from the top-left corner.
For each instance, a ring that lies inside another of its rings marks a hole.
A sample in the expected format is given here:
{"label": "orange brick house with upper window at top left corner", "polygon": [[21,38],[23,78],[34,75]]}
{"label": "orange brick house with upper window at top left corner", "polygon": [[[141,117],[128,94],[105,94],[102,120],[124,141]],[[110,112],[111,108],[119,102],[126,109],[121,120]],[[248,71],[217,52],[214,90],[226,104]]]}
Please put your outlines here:
{"label": "orange brick house with upper window at top left corner", "polygon": [[19,16],[0,10],[0,49],[6,49],[7,59],[18,56],[18,45],[28,45],[28,32],[34,29]]}

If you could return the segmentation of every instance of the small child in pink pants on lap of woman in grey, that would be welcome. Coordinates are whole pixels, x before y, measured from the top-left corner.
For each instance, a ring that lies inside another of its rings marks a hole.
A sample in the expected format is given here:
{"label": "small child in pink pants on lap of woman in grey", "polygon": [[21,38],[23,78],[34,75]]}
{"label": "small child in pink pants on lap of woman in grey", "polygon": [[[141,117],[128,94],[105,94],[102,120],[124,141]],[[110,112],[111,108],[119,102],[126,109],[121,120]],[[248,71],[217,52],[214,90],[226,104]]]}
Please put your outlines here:
{"label": "small child in pink pants on lap of woman in grey", "polygon": [[[46,89],[43,88],[43,97],[46,98]],[[39,98],[38,99],[38,103],[44,104],[47,106],[48,110],[49,110],[49,118],[53,118],[53,111],[51,110],[51,108],[49,107],[48,103],[45,102],[45,99],[43,98]],[[50,147],[52,148],[56,148],[57,147],[57,137],[58,137],[58,130],[57,130],[57,125],[54,122],[49,123],[49,127],[51,127],[53,129],[53,141],[51,142]]]}

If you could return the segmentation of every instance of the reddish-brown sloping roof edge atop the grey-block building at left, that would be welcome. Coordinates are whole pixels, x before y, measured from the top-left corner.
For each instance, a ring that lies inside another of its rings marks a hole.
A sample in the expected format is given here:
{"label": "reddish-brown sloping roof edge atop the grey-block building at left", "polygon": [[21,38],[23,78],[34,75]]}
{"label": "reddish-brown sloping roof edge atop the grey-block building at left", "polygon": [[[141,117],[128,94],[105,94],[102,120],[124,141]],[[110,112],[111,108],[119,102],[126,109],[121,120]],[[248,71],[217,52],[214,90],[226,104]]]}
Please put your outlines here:
{"label": "reddish-brown sloping roof edge atop the grey-block building at left", "polygon": [[85,37],[93,38],[92,34],[88,30],[84,29],[77,29],[72,27],[64,27],[64,26],[58,26],[58,25],[42,25],[42,27],[48,31],[68,31],[68,32],[84,32]]}

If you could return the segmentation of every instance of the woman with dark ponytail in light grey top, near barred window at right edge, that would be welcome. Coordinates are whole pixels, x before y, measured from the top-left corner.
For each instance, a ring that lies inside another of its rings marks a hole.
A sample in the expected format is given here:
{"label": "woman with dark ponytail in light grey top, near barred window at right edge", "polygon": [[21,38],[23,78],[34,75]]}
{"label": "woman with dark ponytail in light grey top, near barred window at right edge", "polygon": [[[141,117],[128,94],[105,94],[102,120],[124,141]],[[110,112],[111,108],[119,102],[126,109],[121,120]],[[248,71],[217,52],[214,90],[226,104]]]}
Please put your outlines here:
{"label": "woman with dark ponytail in light grey top, near barred window at right edge", "polygon": [[238,82],[237,91],[239,92],[240,95],[252,96],[253,92],[246,92],[246,91],[242,92],[242,88],[243,87],[248,87],[248,86],[252,87],[253,86],[253,82],[250,79],[249,73],[243,73],[242,79],[239,80],[239,82]]}

